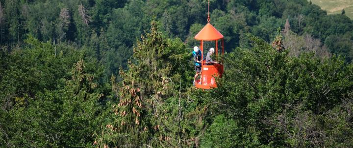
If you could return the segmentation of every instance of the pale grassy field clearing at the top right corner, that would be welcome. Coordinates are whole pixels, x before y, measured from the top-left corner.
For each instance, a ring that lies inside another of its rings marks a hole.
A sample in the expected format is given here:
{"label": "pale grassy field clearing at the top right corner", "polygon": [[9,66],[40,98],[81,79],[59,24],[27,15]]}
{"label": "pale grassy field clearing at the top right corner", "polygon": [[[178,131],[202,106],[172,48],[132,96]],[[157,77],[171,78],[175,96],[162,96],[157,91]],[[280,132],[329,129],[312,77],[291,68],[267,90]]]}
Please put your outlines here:
{"label": "pale grassy field clearing at the top right corner", "polygon": [[326,10],[328,14],[340,14],[345,9],[346,16],[353,20],[353,0],[311,0],[321,9]]}

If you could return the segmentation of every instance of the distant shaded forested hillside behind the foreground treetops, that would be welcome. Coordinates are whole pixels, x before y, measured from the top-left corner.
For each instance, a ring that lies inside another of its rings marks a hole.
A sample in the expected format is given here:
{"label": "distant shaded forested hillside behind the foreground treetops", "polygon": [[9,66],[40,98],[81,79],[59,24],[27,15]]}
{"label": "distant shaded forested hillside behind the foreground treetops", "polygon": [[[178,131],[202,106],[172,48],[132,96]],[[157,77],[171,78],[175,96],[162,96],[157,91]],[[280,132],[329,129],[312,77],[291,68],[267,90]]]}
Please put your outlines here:
{"label": "distant shaded forested hillside behind the foreground treetops", "polygon": [[[197,44],[193,39],[199,31],[194,30],[195,25],[203,26],[207,16],[206,0],[6,0],[2,5],[1,45],[21,45],[25,35],[31,34],[40,41],[75,42],[82,46],[90,44],[90,37],[95,34],[104,34],[109,45],[105,50],[119,54],[116,58],[101,52],[92,55],[106,59],[101,61],[109,67],[105,81],[110,74],[117,74],[119,65],[127,68],[132,45],[147,30],[151,16],[161,23],[164,35],[180,38],[190,46]],[[275,37],[273,30],[283,26],[285,19],[289,19],[294,33],[310,34],[322,41],[330,35],[352,31],[349,18],[327,15],[306,0],[211,0],[210,15],[211,23],[225,36],[227,52],[238,46],[248,47],[245,34],[249,32],[270,42]],[[125,47],[127,52],[118,51]],[[332,49],[332,53],[349,55],[347,50]]]}

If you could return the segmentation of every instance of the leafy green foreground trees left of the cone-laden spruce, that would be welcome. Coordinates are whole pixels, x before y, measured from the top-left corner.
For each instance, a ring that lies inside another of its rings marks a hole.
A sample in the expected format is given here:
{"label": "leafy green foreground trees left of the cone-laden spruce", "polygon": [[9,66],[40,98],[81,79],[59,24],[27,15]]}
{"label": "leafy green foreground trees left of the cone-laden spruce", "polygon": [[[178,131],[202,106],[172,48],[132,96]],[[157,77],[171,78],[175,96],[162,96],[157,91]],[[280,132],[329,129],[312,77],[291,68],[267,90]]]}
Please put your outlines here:
{"label": "leafy green foreground trees left of the cone-laden spruce", "polygon": [[102,68],[94,59],[73,66],[79,52],[70,47],[33,37],[26,42],[26,49],[8,55],[14,61],[1,80],[1,146],[92,147],[101,125]]}

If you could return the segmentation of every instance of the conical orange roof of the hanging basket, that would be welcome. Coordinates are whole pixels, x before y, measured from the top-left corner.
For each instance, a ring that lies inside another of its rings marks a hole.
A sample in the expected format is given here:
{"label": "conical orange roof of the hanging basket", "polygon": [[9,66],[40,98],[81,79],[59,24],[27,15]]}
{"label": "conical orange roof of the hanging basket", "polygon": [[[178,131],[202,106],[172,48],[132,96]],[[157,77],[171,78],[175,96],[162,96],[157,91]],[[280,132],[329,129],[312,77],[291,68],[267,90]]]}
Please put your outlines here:
{"label": "conical orange roof of the hanging basket", "polygon": [[194,38],[199,41],[215,41],[222,39],[223,35],[210,23],[207,23]]}

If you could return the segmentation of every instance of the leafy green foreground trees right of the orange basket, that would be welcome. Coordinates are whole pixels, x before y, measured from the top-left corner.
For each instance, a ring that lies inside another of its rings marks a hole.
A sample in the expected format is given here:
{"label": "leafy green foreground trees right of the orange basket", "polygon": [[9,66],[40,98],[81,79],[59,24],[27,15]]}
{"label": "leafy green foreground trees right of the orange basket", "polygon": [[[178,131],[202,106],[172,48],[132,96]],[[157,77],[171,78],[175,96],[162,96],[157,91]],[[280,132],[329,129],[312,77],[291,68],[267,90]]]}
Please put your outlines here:
{"label": "leafy green foreground trees right of the orange basket", "polygon": [[[223,139],[240,141],[233,147],[328,147],[328,139],[345,146],[349,139],[345,135],[328,137],[332,129],[324,125],[330,121],[319,118],[345,106],[343,98],[353,87],[352,64],[345,65],[337,57],[320,62],[313,53],[290,58],[288,51],[277,52],[269,44],[251,39],[255,43],[251,50],[228,54],[225,77],[204,96],[212,112],[227,114],[237,123],[234,128],[242,129],[242,136],[221,132],[228,135]],[[347,120],[335,122],[352,126]],[[208,132],[217,130],[211,126]]]}

